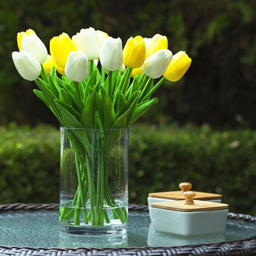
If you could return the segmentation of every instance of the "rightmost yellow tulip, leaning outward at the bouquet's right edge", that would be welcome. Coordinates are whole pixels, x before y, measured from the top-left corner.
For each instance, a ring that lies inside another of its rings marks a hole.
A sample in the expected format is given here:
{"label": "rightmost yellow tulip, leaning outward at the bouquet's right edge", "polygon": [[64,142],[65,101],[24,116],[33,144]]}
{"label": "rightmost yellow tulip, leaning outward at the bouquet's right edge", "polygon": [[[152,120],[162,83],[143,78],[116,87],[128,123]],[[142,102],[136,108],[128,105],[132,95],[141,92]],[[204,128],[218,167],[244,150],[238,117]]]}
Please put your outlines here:
{"label": "rightmost yellow tulip, leaning outward at the bouquet's right edge", "polygon": [[163,76],[169,81],[178,81],[186,73],[190,65],[191,58],[185,52],[180,51],[172,57]]}

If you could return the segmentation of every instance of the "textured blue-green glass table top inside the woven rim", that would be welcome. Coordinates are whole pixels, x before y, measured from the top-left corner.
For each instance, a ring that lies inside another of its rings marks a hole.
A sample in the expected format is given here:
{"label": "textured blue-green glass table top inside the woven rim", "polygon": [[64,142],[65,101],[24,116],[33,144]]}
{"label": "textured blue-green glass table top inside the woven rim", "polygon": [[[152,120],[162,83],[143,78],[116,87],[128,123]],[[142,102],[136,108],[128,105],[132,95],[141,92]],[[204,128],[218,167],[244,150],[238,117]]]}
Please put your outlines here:
{"label": "textured blue-green glass table top inside the woven rim", "polygon": [[127,234],[77,236],[62,233],[58,210],[0,212],[0,245],[33,248],[172,247],[236,241],[256,235],[256,224],[228,219],[224,234],[181,236],[153,230],[148,211],[130,210]]}

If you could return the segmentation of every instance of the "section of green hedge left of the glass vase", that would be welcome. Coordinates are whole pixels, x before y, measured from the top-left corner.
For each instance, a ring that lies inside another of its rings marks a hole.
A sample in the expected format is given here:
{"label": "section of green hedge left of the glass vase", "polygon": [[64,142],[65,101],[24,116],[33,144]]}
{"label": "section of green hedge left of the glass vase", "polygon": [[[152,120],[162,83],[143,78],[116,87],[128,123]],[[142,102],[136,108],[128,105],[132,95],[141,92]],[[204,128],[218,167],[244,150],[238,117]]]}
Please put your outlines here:
{"label": "section of green hedge left of the glass vase", "polygon": [[54,127],[0,127],[0,202],[58,202],[60,135]]}

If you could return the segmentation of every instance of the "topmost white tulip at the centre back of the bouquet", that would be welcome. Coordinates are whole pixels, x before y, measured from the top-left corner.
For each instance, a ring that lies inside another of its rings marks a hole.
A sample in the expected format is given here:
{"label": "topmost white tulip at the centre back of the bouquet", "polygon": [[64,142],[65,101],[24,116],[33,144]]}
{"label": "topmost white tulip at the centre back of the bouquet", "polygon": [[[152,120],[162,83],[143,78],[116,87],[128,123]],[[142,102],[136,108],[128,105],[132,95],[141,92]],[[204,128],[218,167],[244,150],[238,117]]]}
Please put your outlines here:
{"label": "topmost white tulip at the centre back of the bouquet", "polygon": [[78,33],[78,49],[87,55],[88,60],[95,60],[100,57],[100,46],[101,39],[94,28],[80,30],[80,33]]}

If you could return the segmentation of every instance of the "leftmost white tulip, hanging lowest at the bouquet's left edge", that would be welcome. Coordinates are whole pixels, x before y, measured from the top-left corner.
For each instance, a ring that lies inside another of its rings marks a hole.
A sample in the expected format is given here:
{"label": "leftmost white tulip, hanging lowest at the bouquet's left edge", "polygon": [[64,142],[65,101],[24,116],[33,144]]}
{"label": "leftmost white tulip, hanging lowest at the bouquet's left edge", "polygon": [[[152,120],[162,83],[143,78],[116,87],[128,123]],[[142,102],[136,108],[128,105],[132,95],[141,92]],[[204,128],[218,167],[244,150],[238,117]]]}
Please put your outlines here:
{"label": "leftmost white tulip, hanging lowest at the bouquet's left edge", "polygon": [[20,52],[12,52],[12,60],[22,78],[28,81],[34,81],[41,73],[41,65],[31,54],[26,50]]}

